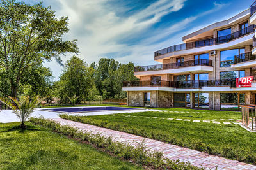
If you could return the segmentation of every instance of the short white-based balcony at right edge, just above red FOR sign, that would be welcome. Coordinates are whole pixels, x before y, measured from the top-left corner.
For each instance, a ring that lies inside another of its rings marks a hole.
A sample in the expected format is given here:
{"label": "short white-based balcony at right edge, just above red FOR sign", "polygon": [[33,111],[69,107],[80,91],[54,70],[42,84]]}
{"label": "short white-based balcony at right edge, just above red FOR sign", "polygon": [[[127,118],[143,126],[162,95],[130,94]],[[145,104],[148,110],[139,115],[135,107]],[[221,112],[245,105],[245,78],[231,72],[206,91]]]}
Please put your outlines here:
{"label": "short white-based balcony at right edge, just above red FOR sign", "polygon": [[240,55],[235,55],[234,64],[231,65],[232,68],[250,68],[256,66],[256,55],[252,52],[241,53]]}

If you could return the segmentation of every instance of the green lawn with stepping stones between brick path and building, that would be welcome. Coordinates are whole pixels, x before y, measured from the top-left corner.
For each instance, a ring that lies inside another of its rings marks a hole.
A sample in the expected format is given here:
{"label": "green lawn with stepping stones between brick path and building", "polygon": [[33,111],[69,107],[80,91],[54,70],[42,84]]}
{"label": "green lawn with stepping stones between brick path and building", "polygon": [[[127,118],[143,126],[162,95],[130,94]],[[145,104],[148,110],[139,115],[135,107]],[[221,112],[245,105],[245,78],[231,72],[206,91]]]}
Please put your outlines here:
{"label": "green lawn with stepping stones between brick path and building", "polygon": [[[161,117],[191,120],[240,119],[241,113],[188,109],[166,109],[165,111],[168,112],[124,113],[131,117],[124,117],[121,114],[90,117],[63,115],[62,117],[256,164],[256,134],[246,131],[239,125],[161,119]],[[144,117],[132,117],[132,115]]]}

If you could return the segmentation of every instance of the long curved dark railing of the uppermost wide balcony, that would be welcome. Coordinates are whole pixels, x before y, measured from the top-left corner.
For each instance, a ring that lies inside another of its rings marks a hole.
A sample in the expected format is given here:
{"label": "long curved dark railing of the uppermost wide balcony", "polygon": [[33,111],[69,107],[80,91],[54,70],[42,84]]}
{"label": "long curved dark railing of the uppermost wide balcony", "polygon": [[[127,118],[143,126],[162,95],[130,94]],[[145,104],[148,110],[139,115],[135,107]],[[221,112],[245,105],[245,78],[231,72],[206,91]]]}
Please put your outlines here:
{"label": "long curved dark railing of the uppermost wide balcony", "polygon": [[241,36],[244,36],[246,34],[250,34],[250,33],[254,32],[254,28],[255,28],[255,25],[250,25],[244,29],[233,32],[232,34],[229,34],[227,36],[220,36],[217,38],[204,39],[204,40],[195,41],[195,42],[191,42],[191,43],[184,43],[184,44],[180,44],[180,45],[170,46],[168,48],[164,48],[162,50],[158,50],[157,52],[155,52],[155,57],[157,57],[159,55],[164,55],[164,54],[170,53],[170,52],[188,50],[188,49],[198,48],[198,47],[202,47],[202,46],[218,45],[221,43],[228,43],[229,41],[232,41],[236,38],[239,38]]}

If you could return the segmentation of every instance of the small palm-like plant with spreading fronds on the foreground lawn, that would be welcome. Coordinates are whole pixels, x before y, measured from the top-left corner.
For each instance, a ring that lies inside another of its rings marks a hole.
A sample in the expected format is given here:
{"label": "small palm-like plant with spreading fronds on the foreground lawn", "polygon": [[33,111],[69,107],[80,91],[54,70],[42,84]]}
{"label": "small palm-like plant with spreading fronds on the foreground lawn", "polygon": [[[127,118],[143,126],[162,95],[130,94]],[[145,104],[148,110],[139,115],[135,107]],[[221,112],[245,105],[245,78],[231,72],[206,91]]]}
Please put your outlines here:
{"label": "small palm-like plant with spreading fronds on the foreground lawn", "polygon": [[39,96],[31,97],[29,96],[20,96],[19,99],[9,97],[10,99],[4,99],[0,97],[0,101],[6,104],[9,108],[13,110],[15,115],[20,119],[20,127],[24,129],[25,122],[29,115],[33,113],[33,110],[41,103],[42,99]]}

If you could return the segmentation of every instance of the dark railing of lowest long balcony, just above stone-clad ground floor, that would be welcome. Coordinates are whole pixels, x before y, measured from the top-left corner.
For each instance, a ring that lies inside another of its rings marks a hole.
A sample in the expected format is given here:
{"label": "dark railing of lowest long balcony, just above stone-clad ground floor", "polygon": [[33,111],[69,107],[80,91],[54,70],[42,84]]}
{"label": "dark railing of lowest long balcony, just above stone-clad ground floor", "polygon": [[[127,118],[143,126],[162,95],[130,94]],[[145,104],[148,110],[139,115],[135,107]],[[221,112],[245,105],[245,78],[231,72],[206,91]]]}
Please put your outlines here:
{"label": "dark railing of lowest long balcony, just above stone-clad ground floor", "polygon": [[125,81],[123,87],[175,87],[201,88],[201,87],[236,87],[236,78],[222,80],[188,80],[188,81]]}

